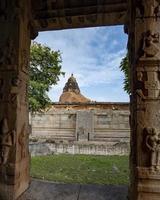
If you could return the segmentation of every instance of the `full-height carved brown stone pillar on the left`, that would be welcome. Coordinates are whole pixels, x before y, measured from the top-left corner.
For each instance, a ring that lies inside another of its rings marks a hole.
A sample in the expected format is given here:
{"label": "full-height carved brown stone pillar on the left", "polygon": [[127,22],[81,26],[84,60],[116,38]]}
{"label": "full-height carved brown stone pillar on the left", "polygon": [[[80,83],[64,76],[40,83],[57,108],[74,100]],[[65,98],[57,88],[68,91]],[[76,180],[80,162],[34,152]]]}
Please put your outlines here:
{"label": "full-height carved brown stone pillar on the left", "polygon": [[29,0],[0,0],[0,199],[29,185]]}

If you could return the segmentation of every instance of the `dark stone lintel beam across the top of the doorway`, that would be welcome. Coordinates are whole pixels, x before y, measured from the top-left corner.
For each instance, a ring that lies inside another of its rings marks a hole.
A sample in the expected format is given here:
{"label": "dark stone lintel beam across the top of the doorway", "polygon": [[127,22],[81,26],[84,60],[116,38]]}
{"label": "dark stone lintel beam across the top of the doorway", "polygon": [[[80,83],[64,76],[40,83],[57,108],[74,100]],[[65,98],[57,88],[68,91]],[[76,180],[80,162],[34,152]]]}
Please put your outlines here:
{"label": "dark stone lintel beam across the top of the doorway", "polygon": [[39,31],[120,25],[126,21],[127,0],[32,1]]}

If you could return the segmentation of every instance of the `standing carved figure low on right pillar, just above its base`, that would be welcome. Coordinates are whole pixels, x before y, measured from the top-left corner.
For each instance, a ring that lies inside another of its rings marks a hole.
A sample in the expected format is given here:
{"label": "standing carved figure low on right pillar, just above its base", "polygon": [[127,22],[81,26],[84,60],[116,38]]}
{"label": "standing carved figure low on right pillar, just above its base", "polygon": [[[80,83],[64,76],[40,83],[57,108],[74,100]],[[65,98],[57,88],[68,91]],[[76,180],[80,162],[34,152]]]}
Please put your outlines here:
{"label": "standing carved figure low on right pillar, just above its base", "polygon": [[151,152],[150,166],[151,168],[160,169],[160,134],[154,128],[148,127],[145,129],[146,146]]}

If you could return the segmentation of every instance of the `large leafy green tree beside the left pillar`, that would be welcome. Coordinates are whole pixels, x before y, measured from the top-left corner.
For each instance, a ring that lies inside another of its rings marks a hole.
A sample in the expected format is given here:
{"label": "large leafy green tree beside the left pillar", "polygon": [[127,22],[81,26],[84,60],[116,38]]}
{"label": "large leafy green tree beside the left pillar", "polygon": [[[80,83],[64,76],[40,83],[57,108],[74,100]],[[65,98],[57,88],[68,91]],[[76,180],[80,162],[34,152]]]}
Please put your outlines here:
{"label": "large leafy green tree beside the left pillar", "polygon": [[33,42],[30,49],[29,110],[41,111],[51,104],[47,92],[57,84],[61,71],[61,54],[48,46]]}

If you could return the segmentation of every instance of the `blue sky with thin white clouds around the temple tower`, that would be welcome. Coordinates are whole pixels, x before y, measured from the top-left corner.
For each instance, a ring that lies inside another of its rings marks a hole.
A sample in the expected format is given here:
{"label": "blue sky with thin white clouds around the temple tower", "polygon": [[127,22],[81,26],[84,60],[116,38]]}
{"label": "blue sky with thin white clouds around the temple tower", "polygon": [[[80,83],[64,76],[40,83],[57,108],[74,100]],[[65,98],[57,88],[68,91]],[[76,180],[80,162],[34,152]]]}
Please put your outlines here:
{"label": "blue sky with thin white clouds around the temple tower", "polygon": [[40,32],[36,41],[61,52],[65,77],[61,76],[49,91],[53,102],[59,100],[72,73],[81,93],[93,101],[129,101],[123,90],[124,74],[119,69],[127,46],[123,26]]}

